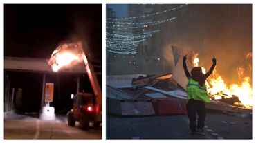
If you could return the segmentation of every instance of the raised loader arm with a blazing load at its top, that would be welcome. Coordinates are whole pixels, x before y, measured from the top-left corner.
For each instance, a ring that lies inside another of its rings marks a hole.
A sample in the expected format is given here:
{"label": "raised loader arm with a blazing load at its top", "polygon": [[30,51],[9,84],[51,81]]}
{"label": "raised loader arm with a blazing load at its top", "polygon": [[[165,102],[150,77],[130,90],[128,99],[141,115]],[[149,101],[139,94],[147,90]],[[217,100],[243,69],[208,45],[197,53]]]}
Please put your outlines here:
{"label": "raised loader arm with a blazing load at its top", "polygon": [[[95,98],[98,106],[98,112],[95,112],[97,121],[101,121],[102,114],[102,91],[98,83],[97,76],[94,72],[93,65],[88,60],[83,48],[82,42],[77,43],[65,43],[57,47],[51,58],[48,61],[48,64],[51,65],[54,72],[57,72],[63,67],[70,67],[77,65],[77,63],[84,62],[86,73],[89,76],[91,87],[93,88],[93,98]],[[93,115],[94,116],[94,115]]]}

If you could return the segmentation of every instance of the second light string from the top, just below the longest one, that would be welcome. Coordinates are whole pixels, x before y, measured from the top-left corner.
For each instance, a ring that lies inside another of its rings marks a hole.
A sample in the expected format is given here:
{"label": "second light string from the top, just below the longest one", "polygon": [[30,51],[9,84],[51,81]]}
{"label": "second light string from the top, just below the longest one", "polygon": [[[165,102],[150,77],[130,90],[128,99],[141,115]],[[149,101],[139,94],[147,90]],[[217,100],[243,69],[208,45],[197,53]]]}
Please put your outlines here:
{"label": "second light string from the top, just below the longest one", "polygon": [[172,17],[170,19],[165,19],[165,20],[162,20],[162,21],[154,21],[153,23],[149,23],[147,25],[138,25],[138,26],[126,26],[126,27],[119,27],[119,26],[113,26],[113,27],[108,27],[106,26],[106,28],[109,28],[109,29],[117,29],[117,30],[130,30],[130,29],[136,29],[136,28],[147,28],[148,26],[152,26],[152,25],[158,25],[158,24],[161,24],[161,23],[165,23],[167,21],[172,21],[176,19],[176,17]]}

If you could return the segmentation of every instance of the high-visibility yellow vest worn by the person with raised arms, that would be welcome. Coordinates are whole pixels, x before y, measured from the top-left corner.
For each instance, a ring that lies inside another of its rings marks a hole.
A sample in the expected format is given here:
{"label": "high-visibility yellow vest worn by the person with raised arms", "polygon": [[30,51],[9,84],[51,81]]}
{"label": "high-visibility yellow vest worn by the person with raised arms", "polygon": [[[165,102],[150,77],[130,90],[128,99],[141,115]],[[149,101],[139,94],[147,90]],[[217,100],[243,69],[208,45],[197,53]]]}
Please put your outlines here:
{"label": "high-visibility yellow vest worn by the person with raised arms", "polygon": [[203,102],[210,102],[205,85],[202,87],[197,81],[193,80],[193,78],[188,78],[187,96],[188,100],[194,99]]}

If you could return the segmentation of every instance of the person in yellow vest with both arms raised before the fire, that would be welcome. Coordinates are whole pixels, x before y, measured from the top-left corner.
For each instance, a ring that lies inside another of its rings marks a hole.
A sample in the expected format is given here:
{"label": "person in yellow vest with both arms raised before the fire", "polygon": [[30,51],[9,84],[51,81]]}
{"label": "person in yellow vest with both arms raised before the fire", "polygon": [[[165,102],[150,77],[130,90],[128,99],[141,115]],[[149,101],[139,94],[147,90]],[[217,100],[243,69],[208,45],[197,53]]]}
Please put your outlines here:
{"label": "person in yellow vest with both arms raised before the fire", "polygon": [[[210,70],[203,74],[201,67],[194,67],[191,72],[188,72],[187,65],[185,63],[187,55],[183,57],[183,68],[185,75],[188,78],[187,84],[187,113],[190,120],[190,130],[192,134],[203,134],[203,127],[205,122],[205,102],[210,102],[210,98],[207,94],[205,87],[205,80],[212,74],[212,71],[216,65],[216,58],[212,58],[212,67]],[[191,75],[190,75],[191,73]],[[196,124],[196,113],[198,115]]]}

